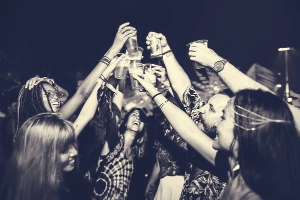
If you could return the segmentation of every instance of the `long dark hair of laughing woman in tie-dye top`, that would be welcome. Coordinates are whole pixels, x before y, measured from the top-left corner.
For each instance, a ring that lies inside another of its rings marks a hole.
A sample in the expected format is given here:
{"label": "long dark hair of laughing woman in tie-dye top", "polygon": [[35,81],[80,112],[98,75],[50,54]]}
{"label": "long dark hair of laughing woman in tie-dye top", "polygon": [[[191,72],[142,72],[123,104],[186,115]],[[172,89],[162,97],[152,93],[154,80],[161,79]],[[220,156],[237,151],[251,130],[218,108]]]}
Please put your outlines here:
{"label": "long dark hair of laughing woman in tie-dye top", "polygon": [[136,146],[138,158],[141,158],[141,157],[143,157],[143,155],[145,153],[146,142],[147,142],[147,133],[146,133],[146,124],[147,123],[146,123],[146,114],[144,113],[144,111],[141,108],[132,108],[129,112],[127,112],[126,115],[124,116],[123,122],[120,124],[119,132],[120,132],[120,134],[125,133],[126,123],[127,123],[128,118],[129,118],[129,115],[132,112],[134,112],[135,110],[139,111],[140,121],[145,123],[143,129],[140,132],[137,133],[136,142],[133,144],[133,145]]}

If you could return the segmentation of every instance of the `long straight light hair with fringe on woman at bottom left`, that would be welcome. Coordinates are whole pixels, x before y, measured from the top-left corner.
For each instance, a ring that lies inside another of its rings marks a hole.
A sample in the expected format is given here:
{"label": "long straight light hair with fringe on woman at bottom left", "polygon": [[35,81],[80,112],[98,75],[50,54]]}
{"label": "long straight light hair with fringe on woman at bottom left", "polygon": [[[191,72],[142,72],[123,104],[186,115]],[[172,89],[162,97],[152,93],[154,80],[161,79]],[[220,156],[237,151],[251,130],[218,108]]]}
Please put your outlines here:
{"label": "long straight light hair with fringe on woman at bottom left", "polygon": [[24,122],[5,173],[7,199],[57,199],[60,154],[68,145],[77,147],[74,128],[60,114],[43,113]]}

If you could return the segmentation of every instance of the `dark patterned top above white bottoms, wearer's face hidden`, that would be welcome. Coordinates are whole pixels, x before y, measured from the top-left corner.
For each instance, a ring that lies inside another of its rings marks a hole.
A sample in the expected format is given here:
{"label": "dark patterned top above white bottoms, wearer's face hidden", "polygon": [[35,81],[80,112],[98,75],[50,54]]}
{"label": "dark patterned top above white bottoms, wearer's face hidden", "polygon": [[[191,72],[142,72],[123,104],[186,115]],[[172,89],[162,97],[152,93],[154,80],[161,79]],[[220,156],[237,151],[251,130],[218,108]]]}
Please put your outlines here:
{"label": "dark patterned top above white bottoms, wearer's face hidden", "polygon": [[[162,134],[158,134],[155,140],[157,158],[160,167],[159,178],[165,176],[184,175],[184,165],[186,157],[186,142],[183,139],[176,141],[179,146],[170,141],[165,135],[173,135],[176,132],[169,127],[168,121],[165,119],[162,128]],[[173,132],[173,133],[171,133]]]}

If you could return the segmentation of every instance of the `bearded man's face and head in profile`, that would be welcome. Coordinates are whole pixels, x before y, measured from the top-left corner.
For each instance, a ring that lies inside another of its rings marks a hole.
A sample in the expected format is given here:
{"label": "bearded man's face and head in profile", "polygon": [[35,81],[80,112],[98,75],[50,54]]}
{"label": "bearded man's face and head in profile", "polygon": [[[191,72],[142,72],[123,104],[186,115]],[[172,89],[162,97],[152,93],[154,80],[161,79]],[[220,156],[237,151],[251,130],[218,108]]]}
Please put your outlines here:
{"label": "bearded man's face and head in profile", "polygon": [[201,121],[198,127],[211,138],[215,137],[216,127],[214,124],[222,116],[222,110],[225,108],[228,100],[229,97],[225,95],[215,94],[199,109],[199,118]]}

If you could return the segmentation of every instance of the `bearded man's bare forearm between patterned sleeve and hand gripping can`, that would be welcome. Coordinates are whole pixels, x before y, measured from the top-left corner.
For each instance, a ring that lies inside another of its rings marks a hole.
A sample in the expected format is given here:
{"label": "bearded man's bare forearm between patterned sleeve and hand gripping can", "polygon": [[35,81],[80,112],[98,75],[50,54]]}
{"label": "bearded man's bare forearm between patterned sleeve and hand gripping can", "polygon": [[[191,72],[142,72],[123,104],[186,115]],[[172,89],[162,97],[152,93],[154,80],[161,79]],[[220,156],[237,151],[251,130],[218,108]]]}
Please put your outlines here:
{"label": "bearded man's bare forearm between patterned sleeve and hand gripping can", "polygon": [[[163,51],[166,52],[170,50],[167,45]],[[182,100],[182,95],[185,89],[191,84],[187,74],[184,72],[182,67],[177,62],[174,54],[166,57],[162,57],[163,63],[165,65],[169,81],[171,82],[173,90],[177,93],[180,101]],[[180,81],[179,81],[180,80]]]}

